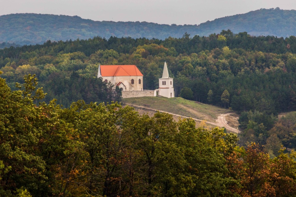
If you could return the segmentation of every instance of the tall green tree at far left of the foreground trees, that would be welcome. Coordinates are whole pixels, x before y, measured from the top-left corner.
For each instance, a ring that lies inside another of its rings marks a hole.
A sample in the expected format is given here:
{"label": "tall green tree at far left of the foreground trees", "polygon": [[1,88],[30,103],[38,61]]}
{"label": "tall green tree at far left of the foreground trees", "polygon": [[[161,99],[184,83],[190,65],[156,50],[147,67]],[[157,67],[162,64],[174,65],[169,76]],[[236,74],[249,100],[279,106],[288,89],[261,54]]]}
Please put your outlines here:
{"label": "tall green tree at far left of the foreground trees", "polygon": [[[0,194],[9,196],[23,187],[33,196],[46,193],[46,164],[36,152],[42,132],[42,108],[34,101],[42,98],[36,78],[25,76],[21,90],[11,91],[0,78]],[[28,192],[25,192],[29,195]],[[25,195],[25,194],[24,194]]]}

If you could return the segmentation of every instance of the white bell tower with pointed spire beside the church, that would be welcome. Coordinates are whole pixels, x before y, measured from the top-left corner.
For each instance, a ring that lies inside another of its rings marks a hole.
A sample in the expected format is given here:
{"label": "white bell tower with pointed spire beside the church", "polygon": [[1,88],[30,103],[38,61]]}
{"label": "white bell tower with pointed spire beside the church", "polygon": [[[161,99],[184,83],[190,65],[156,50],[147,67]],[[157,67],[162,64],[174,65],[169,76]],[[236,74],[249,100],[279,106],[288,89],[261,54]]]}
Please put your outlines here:
{"label": "white bell tower with pointed spire beside the church", "polygon": [[168,67],[166,62],[163,66],[163,77],[159,79],[159,95],[163,97],[175,97],[173,78],[168,75]]}

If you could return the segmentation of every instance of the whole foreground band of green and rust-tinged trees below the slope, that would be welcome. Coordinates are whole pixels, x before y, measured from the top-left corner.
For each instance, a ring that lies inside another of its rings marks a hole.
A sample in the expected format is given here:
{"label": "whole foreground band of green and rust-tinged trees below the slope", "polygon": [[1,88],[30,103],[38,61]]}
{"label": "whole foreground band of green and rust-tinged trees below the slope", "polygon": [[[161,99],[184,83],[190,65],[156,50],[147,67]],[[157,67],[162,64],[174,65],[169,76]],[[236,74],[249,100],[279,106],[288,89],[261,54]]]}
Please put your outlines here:
{"label": "whole foreground band of green and rust-tinged trees below the slope", "polygon": [[295,152],[270,159],[223,129],[118,103],[61,108],[36,78],[0,78],[1,196],[295,196]]}

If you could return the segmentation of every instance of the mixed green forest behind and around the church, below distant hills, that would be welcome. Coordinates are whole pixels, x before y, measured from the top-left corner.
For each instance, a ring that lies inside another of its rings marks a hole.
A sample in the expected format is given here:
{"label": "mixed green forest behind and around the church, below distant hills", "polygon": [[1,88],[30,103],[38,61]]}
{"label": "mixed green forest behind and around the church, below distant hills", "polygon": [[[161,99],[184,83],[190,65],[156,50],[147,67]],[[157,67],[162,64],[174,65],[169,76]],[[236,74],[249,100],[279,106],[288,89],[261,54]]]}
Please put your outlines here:
{"label": "mixed green forest behind and around the church, below distant hills", "polygon": [[[118,89],[96,78],[99,64],[135,64],[144,74],[144,89],[153,90],[166,60],[176,96],[231,107],[240,114],[239,144],[255,141],[276,156],[281,144],[288,149],[296,146],[293,115],[286,126],[276,119],[278,113],[296,110],[295,53],[295,36],[255,37],[230,30],[208,37],[185,33],[165,40],[94,37],[4,48],[0,71],[12,90],[25,74],[36,74],[38,86],[47,93],[42,101],[57,99],[57,104],[68,108],[77,100],[120,101]],[[182,90],[190,94],[181,94]],[[276,125],[282,129],[275,135]]]}

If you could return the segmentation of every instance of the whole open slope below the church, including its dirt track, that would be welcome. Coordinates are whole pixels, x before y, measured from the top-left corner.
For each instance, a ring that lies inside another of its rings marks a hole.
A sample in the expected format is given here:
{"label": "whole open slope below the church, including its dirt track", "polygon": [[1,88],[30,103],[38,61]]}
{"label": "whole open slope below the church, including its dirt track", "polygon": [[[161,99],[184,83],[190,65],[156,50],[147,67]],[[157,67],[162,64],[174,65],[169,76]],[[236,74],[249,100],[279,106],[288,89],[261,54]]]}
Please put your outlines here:
{"label": "whole open slope below the church, including its dirt track", "polygon": [[186,100],[181,97],[125,98],[122,100],[122,104],[134,107],[140,114],[147,113],[152,116],[156,110],[159,110],[170,113],[176,121],[178,121],[178,118],[190,117],[197,122],[197,126],[205,126],[204,124],[207,124],[209,128],[219,126],[225,127],[228,131],[234,133],[238,132],[236,129],[238,127],[238,116],[233,111]]}

